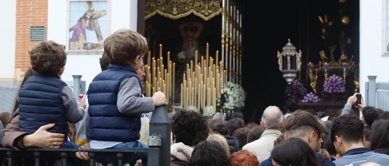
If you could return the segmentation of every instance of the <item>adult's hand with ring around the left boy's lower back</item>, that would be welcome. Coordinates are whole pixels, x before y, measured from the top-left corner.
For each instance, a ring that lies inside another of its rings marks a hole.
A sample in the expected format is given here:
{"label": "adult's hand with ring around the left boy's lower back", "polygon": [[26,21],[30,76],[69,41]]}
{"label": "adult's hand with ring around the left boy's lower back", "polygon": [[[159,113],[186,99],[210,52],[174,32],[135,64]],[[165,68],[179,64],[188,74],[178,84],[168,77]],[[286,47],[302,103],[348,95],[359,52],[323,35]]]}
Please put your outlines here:
{"label": "adult's hand with ring around the left boy's lower back", "polygon": [[41,126],[35,133],[22,137],[20,142],[25,147],[58,149],[63,144],[65,135],[46,131],[54,125],[54,123],[51,123]]}

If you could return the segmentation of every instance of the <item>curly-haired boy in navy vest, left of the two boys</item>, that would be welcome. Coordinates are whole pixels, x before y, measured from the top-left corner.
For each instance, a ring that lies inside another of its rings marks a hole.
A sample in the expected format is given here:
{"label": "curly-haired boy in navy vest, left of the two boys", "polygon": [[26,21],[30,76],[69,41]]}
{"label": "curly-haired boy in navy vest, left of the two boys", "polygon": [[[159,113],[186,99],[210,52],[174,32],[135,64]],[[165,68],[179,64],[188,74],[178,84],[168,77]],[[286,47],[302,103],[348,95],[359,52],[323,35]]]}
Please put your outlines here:
{"label": "curly-haired boy in navy vest, left of the two boys", "polygon": [[40,41],[29,54],[35,74],[19,92],[19,131],[33,134],[40,126],[55,123],[47,131],[62,133],[65,138],[52,142],[53,148],[78,149],[77,144],[68,140],[67,122],[81,121],[86,105],[76,102],[72,90],[60,79],[66,64],[65,46],[54,41]]}

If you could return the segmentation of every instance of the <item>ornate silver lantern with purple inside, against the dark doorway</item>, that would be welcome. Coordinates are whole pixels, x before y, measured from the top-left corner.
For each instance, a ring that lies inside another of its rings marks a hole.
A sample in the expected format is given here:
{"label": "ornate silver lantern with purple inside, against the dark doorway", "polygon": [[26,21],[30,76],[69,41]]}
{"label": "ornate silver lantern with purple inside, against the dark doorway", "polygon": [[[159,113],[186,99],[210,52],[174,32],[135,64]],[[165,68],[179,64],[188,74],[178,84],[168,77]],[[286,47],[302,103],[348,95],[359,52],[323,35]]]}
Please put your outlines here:
{"label": "ornate silver lantern with purple inside, against the dark doorway", "polygon": [[288,43],[282,47],[282,52],[277,51],[277,57],[280,71],[284,73],[282,77],[290,85],[301,69],[301,50],[297,52],[296,47],[288,39]]}

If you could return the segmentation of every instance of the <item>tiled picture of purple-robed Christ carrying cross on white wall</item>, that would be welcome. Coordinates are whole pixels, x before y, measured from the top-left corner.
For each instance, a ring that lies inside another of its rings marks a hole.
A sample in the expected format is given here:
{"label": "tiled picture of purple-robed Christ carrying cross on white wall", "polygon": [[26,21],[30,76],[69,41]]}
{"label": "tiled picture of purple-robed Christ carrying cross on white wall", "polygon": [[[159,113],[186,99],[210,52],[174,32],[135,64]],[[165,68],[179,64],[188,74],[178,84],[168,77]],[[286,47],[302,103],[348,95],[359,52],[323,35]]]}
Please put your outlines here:
{"label": "tiled picture of purple-robed Christ carrying cross on white wall", "polygon": [[69,50],[101,50],[107,37],[107,2],[70,2]]}

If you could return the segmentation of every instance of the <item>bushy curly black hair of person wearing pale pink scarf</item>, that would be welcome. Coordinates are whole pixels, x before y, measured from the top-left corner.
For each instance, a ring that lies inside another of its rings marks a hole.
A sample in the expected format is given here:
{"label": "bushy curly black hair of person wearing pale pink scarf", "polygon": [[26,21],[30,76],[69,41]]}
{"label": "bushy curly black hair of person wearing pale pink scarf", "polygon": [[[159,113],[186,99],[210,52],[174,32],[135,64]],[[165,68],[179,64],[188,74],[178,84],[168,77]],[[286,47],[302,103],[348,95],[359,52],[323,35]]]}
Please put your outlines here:
{"label": "bushy curly black hair of person wearing pale pink scarf", "polygon": [[173,117],[172,133],[175,142],[197,145],[208,137],[207,118],[195,111],[177,111]]}

